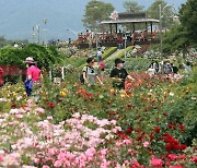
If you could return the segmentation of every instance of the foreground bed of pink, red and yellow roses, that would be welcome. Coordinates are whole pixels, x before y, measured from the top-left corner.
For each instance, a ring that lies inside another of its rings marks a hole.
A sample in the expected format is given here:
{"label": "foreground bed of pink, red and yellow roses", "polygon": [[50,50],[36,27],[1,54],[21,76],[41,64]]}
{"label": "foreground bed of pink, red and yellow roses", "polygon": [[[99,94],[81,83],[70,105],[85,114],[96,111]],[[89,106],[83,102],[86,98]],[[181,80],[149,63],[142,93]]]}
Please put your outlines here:
{"label": "foreground bed of pink, red and yellow roses", "polygon": [[44,81],[0,92],[0,166],[195,167],[196,80],[131,73],[126,91]]}

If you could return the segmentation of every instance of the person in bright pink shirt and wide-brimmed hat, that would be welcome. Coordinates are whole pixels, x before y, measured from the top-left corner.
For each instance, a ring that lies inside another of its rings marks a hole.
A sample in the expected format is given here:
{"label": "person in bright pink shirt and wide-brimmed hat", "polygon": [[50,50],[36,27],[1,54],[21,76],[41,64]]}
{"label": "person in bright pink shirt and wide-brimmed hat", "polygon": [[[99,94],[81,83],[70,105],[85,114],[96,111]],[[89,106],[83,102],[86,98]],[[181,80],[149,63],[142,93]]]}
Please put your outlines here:
{"label": "person in bright pink shirt and wide-brimmed hat", "polygon": [[37,68],[37,63],[34,61],[32,57],[27,57],[24,61],[27,68],[26,80],[25,80],[25,89],[26,95],[32,95],[33,85],[34,88],[36,86],[40,86],[40,70]]}

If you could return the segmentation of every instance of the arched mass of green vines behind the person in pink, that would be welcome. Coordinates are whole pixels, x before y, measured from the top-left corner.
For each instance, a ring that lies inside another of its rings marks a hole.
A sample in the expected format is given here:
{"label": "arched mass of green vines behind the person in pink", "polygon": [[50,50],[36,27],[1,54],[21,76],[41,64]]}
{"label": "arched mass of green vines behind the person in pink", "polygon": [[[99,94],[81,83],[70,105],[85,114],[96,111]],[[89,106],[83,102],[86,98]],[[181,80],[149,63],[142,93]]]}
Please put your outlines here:
{"label": "arched mass of green vines behind the person in pink", "polygon": [[0,50],[0,64],[12,64],[25,68],[23,61],[26,57],[33,57],[39,68],[49,69],[51,64],[60,62],[55,47],[44,47],[30,44],[24,48],[3,47]]}

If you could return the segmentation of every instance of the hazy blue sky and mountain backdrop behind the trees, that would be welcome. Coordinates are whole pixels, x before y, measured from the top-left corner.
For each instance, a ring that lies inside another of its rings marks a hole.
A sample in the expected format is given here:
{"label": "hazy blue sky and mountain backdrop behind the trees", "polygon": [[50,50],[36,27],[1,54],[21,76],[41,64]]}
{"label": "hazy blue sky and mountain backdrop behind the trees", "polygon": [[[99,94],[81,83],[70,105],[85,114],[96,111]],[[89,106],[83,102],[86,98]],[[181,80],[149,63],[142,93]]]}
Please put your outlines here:
{"label": "hazy blue sky and mountain backdrop behind the trees", "polygon": [[[42,40],[68,39],[84,29],[81,22],[90,0],[0,0],[0,36],[7,39],[32,39],[33,27],[39,25]],[[124,0],[111,2],[117,12],[124,12]],[[176,9],[186,0],[165,0]],[[137,0],[148,9],[154,0]],[[47,19],[45,25],[43,20]],[[69,29],[69,31],[68,31]]]}

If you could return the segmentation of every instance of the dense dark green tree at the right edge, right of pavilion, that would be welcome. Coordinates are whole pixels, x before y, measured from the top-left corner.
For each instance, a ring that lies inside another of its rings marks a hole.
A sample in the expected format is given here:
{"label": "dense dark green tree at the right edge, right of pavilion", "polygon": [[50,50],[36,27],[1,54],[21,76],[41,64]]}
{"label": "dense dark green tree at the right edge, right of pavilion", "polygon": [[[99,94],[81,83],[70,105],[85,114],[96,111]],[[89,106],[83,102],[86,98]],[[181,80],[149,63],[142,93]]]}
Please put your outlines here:
{"label": "dense dark green tree at the right edge, right of pavilion", "polygon": [[179,10],[181,24],[173,26],[164,35],[164,52],[175,50],[187,51],[188,47],[197,47],[197,1],[188,0]]}

